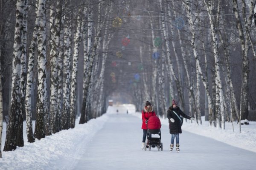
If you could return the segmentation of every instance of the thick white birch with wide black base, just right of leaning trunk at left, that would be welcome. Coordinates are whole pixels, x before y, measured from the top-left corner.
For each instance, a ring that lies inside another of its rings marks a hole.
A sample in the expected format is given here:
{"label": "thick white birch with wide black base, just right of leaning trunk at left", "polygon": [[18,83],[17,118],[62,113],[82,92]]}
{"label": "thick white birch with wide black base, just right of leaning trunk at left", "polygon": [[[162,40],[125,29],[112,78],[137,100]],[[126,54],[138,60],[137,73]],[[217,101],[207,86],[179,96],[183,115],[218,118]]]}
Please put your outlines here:
{"label": "thick white birch with wide black base, just right of leaning trunk at left", "polygon": [[39,29],[38,29],[38,91],[36,105],[35,137],[37,139],[50,135],[48,122],[49,108],[47,101],[47,73],[46,73],[46,8],[45,0],[38,0]]}

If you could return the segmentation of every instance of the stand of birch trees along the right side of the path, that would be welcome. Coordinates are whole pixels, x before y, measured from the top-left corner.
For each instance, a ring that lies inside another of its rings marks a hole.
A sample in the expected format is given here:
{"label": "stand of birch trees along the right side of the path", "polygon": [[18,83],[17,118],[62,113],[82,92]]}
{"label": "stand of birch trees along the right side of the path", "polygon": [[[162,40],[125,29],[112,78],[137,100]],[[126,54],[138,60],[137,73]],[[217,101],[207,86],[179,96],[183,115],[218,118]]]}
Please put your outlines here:
{"label": "stand of birch trees along the right side of the path", "polygon": [[[149,55],[158,51],[161,57],[152,61],[157,66],[148,76],[151,90],[135,92],[139,89],[134,86],[137,108],[149,99],[144,94],[150,94],[157,113],[166,116],[167,103],[178,98],[180,108],[197,124],[202,111],[209,125],[217,128],[225,129],[226,121],[247,124],[249,110],[256,108],[255,4],[255,0],[141,2],[145,7],[141,15],[147,17],[140,28],[151,30],[145,30],[151,38],[144,37],[144,42],[152,42],[143,48],[150,49]],[[161,38],[161,46],[156,47],[155,37]],[[143,83],[148,84],[144,78]]]}

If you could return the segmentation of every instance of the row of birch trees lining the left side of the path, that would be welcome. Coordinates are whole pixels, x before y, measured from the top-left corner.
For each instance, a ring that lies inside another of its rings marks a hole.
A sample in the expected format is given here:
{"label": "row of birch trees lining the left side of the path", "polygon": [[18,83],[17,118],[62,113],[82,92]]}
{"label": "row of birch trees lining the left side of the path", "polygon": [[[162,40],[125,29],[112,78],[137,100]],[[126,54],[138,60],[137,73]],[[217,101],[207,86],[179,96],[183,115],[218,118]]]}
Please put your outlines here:
{"label": "row of birch trees lining the left side of the path", "polygon": [[[23,147],[23,119],[28,142],[75,127],[79,55],[84,62],[79,123],[105,113],[104,102],[99,102],[104,94],[98,101],[90,98],[98,94],[92,90],[93,82],[98,80],[94,72],[99,65],[95,60],[99,55],[107,57],[107,53],[99,50],[107,52],[114,32],[118,31],[107,30],[113,20],[107,13],[119,10],[113,7],[114,3],[104,0],[1,1],[1,134],[3,112],[9,116],[4,151]],[[101,71],[101,81],[96,82],[96,88],[102,92],[104,69]],[[32,115],[36,120],[34,132]]]}

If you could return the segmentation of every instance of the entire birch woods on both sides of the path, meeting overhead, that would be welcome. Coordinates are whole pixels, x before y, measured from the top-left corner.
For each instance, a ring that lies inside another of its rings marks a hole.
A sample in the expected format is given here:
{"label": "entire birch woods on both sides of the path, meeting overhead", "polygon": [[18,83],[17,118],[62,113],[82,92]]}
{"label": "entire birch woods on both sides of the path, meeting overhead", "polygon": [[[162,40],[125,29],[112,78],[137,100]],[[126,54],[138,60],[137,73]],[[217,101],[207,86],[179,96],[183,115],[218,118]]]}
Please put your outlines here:
{"label": "entire birch woods on both sides of the path, meeting overhead", "polygon": [[[255,3],[1,0],[4,151],[23,146],[24,119],[28,142],[35,142],[74,128],[79,113],[81,124],[101,116],[113,91],[128,91],[138,110],[151,100],[160,116],[175,98],[196,123],[203,111],[217,128],[247,119],[256,108]],[[120,56],[125,36],[132,43]],[[119,65],[111,67],[113,61]]]}

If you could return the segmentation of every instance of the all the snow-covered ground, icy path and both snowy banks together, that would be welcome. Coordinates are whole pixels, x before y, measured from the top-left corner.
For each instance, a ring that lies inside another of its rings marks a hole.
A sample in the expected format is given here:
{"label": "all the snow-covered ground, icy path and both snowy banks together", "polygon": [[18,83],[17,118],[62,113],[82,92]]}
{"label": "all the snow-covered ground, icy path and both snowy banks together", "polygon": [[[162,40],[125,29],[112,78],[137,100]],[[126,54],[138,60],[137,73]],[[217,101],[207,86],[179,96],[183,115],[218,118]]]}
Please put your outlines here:
{"label": "all the snow-covered ground, icy path and both snowy banks together", "polygon": [[[161,119],[163,151],[140,150],[143,135],[140,118],[141,113],[135,112],[134,105],[109,107],[106,114],[84,125],[79,125],[77,119],[74,129],[62,130],[34,143],[25,142],[24,147],[15,151],[2,152],[0,169],[256,169],[256,122],[243,125],[242,133],[237,124],[233,132],[231,123],[226,124],[226,130],[218,130],[205,121],[203,125],[184,122],[181,151],[174,154],[175,151],[169,151],[167,119]],[[4,145],[5,123],[3,128]]]}

